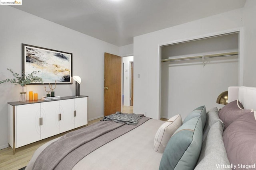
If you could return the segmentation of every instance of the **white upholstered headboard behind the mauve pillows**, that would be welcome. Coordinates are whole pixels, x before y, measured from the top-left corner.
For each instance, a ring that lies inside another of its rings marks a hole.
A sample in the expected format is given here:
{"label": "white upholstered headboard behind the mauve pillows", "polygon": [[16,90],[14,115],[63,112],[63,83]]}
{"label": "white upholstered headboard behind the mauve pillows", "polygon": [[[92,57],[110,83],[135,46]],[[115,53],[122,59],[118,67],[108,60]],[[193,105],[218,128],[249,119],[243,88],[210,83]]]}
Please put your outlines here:
{"label": "white upholstered headboard behind the mauve pillows", "polygon": [[239,100],[244,109],[256,110],[256,87],[229,87],[228,88],[228,102]]}

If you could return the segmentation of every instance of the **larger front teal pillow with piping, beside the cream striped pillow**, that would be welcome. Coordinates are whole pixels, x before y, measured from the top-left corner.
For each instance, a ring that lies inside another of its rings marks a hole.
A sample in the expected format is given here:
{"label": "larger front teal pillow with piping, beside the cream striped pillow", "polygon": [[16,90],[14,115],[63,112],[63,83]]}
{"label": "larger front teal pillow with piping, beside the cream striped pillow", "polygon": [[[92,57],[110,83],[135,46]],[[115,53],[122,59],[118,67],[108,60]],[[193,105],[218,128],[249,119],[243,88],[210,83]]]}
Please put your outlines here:
{"label": "larger front teal pillow with piping, beside the cream striped pillow", "polygon": [[169,140],[159,170],[193,170],[202,146],[202,133],[200,116],[183,123]]}

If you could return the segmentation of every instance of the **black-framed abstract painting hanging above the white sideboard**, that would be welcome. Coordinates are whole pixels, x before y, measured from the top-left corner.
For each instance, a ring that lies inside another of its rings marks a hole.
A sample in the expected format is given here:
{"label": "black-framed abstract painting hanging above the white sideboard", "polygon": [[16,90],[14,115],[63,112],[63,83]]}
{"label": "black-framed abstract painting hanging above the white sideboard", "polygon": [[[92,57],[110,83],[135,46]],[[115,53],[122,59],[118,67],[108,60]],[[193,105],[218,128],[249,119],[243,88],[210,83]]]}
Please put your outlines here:
{"label": "black-framed abstract painting hanging above the white sideboard", "polygon": [[72,53],[22,43],[22,71],[25,75],[40,71],[36,76],[43,79],[43,84],[72,84],[72,56]]}

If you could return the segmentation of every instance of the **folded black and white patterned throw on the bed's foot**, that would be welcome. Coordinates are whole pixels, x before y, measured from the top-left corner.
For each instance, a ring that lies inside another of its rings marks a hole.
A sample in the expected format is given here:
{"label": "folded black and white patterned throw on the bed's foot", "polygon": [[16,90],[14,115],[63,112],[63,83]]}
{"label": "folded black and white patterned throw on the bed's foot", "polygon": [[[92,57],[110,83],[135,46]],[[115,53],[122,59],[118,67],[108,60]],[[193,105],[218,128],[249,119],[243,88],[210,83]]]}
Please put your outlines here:
{"label": "folded black and white patterned throw on the bed's foot", "polygon": [[103,117],[102,121],[115,121],[117,123],[126,123],[128,125],[137,125],[139,119],[144,116],[143,114],[134,114],[134,113],[122,113],[117,111],[112,115],[107,115]]}

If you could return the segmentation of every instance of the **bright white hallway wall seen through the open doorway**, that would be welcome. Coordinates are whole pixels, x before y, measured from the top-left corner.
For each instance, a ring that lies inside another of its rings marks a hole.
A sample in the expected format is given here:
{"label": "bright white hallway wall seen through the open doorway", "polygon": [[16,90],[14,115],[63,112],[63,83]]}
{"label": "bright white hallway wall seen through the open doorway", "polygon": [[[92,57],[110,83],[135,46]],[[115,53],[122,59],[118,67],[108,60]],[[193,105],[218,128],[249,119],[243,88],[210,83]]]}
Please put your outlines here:
{"label": "bright white hallway wall seen through the open doorway", "polygon": [[131,61],[133,61],[133,56],[122,57],[122,63],[124,63],[124,106],[130,106]]}

